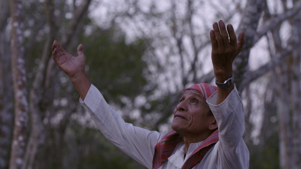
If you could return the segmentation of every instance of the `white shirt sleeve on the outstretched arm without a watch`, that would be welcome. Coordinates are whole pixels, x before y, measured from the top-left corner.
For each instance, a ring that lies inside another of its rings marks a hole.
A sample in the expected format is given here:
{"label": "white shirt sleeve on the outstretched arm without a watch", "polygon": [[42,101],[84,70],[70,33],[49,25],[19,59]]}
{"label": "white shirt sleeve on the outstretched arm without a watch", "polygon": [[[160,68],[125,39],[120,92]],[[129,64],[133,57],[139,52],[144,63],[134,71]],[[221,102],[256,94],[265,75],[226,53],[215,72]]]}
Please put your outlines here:
{"label": "white shirt sleeve on the outstretched arm without a watch", "polygon": [[115,146],[147,168],[152,168],[154,147],[165,133],[148,131],[126,123],[104,100],[92,84],[85,100],[80,103],[88,110],[99,130]]}

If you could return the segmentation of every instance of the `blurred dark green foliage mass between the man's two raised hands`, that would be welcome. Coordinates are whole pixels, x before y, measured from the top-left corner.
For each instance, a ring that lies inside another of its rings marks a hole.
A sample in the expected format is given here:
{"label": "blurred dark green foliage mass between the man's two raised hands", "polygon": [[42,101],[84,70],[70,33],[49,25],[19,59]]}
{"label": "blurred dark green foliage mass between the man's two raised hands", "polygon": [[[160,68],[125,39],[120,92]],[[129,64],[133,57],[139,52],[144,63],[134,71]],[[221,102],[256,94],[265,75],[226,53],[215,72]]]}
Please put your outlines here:
{"label": "blurred dark green foliage mass between the man's two raised hands", "polygon": [[143,91],[147,80],[143,74],[146,63],[142,56],[146,49],[144,40],[127,44],[122,33],[114,27],[96,29],[88,37],[84,52],[89,66],[88,76],[108,100],[121,105],[120,96],[133,99]]}

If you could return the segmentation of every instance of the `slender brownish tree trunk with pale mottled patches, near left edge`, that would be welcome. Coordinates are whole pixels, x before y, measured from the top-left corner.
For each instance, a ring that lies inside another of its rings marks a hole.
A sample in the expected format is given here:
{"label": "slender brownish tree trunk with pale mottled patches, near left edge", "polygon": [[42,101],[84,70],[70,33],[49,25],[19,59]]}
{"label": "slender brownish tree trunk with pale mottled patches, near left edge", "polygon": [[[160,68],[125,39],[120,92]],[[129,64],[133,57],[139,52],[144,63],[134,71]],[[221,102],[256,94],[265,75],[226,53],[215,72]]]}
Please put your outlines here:
{"label": "slender brownish tree trunk with pale mottled patches, near left edge", "polygon": [[11,146],[10,169],[19,169],[23,163],[25,141],[27,140],[28,103],[26,91],[26,70],[23,48],[22,1],[10,0],[11,13],[11,58],[14,83],[15,121]]}

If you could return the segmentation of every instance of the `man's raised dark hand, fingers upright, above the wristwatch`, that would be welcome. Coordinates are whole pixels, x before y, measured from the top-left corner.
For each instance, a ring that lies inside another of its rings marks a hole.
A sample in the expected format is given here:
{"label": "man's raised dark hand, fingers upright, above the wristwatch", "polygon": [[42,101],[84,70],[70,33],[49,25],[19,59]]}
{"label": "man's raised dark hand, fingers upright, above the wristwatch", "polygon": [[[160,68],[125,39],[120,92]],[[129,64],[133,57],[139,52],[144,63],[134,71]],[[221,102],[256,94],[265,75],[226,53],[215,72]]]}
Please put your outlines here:
{"label": "man's raised dark hand, fingers upright, above the wristwatch", "polygon": [[223,83],[233,74],[232,63],[244,46],[244,32],[240,32],[238,41],[236,41],[233,26],[228,24],[226,29],[225,23],[219,20],[219,24],[213,23],[210,39],[214,74],[216,80]]}

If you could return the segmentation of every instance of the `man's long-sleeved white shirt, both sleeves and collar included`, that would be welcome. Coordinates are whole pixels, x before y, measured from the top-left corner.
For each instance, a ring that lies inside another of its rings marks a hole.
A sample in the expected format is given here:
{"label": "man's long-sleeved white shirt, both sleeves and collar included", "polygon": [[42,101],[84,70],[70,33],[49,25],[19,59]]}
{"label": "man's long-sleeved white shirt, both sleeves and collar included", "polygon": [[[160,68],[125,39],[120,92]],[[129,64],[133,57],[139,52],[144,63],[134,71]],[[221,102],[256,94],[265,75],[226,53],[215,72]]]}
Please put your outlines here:
{"label": "man's long-sleeved white shirt, both sleeves and collar included", "polygon": [[[166,133],[148,131],[124,122],[98,89],[91,85],[85,100],[80,103],[88,110],[96,125],[108,140],[147,168],[152,168],[154,147]],[[217,105],[217,92],[207,103],[219,128],[219,141],[209,149],[202,161],[193,169],[245,169],[249,168],[249,151],[244,143],[244,110],[236,87]],[[185,144],[180,141],[172,155],[160,169],[179,169],[201,142],[191,143],[185,156]]]}

